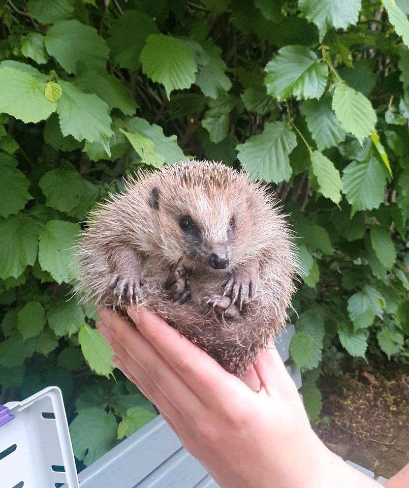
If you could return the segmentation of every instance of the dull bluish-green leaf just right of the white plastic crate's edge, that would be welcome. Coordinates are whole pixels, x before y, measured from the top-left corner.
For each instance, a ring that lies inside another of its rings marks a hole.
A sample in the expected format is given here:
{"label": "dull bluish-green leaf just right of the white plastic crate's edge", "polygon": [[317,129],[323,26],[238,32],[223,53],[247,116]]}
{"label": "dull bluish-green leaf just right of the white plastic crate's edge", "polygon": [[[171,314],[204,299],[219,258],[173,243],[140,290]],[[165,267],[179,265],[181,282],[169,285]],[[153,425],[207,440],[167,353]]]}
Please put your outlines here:
{"label": "dull bluish-green leaf just right of the white plastic crate's edge", "polygon": [[89,466],[116,444],[117,423],[113,413],[97,407],[81,410],[70,424],[75,457]]}

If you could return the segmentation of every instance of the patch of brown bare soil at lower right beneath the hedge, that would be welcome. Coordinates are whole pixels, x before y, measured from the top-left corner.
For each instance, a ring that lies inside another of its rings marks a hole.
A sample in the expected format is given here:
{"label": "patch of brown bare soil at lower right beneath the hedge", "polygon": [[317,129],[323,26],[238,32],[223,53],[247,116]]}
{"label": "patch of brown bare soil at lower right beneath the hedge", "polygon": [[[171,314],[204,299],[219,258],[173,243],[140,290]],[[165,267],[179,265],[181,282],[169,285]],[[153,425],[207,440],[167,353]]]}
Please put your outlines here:
{"label": "patch of brown bare soil at lower right beneath the hedge", "polygon": [[389,478],[409,462],[409,373],[371,368],[323,377],[319,437],[334,452]]}

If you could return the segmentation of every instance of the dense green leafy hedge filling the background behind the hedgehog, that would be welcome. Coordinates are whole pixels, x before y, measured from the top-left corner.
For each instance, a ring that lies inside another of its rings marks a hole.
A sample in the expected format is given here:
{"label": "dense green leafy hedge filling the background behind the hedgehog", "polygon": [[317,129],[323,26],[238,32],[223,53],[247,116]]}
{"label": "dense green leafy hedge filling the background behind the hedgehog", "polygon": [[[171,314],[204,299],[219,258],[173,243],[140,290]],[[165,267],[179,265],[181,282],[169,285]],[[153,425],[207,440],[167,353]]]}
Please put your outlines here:
{"label": "dense green leafy hedge filling the background behind the hedgehog", "polygon": [[334,351],[407,359],[407,0],[14,0],[0,13],[0,401],[59,385],[85,464],[155,415],[113,373],[95,311],[67,300],[70,247],[122,176],[190,157],[242,166],[291,214],[291,354],[311,418]]}

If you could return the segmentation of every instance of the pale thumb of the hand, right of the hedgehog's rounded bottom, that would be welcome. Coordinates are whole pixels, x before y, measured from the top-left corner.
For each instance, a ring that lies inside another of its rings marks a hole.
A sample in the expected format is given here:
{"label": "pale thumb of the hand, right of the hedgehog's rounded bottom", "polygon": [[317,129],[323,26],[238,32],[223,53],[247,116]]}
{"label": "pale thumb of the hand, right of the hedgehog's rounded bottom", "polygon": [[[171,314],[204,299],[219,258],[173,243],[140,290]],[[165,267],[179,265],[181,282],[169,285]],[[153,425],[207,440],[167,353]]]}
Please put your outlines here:
{"label": "pale thumb of the hand, right of the hedgehog's rounded bottom", "polygon": [[262,351],[254,369],[260,380],[260,391],[264,390],[270,396],[278,394],[288,398],[296,394],[298,397],[297,388],[275,348]]}

